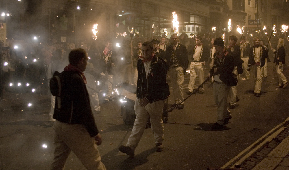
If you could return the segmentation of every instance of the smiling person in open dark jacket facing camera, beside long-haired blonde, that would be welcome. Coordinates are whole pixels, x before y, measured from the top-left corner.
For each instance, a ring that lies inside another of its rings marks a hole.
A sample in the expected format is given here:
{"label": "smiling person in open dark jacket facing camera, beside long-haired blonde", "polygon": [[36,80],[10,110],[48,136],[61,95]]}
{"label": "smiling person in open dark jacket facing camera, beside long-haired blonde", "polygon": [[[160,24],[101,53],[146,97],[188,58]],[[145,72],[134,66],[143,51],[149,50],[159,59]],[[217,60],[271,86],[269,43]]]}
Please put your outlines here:
{"label": "smiling person in open dark jacket facing camera, beside long-haired blonde", "polygon": [[260,97],[265,59],[268,58],[268,51],[267,47],[265,48],[260,45],[260,39],[258,37],[253,39],[253,44],[254,46],[250,48],[247,70],[252,70],[253,72],[253,78],[255,80],[254,95]]}

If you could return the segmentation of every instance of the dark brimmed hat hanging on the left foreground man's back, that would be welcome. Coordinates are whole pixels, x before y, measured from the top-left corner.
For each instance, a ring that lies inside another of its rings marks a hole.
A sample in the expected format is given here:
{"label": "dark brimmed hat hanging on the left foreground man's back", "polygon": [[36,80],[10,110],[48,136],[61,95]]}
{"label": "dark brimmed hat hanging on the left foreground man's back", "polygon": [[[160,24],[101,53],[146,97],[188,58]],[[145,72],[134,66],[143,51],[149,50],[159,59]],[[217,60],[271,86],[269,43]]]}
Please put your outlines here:
{"label": "dark brimmed hat hanging on the left foreground man's back", "polygon": [[63,78],[58,71],[55,71],[53,77],[49,80],[49,88],[51,94],[57,98],[58,109],[61,108],[61,96],[64,95],[63,87]]}

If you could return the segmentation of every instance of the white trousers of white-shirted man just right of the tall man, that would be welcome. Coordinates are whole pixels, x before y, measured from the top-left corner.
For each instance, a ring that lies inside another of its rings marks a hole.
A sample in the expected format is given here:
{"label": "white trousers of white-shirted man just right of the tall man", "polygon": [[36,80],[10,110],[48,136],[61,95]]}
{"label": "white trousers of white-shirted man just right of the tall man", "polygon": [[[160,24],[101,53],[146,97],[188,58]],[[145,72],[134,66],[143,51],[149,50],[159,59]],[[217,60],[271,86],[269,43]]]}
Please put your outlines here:
{"label": "white trousers of white-shirted man just right of the tall man", "polygon": [[199,76],[199,84],[203,83],[204,82],[203,64],[201,62],[191,62],[190,81],[188,84],[188,89],[190,92],[193,92],[194,88],[198,88],[198,86],[195,85],[197,75]]}

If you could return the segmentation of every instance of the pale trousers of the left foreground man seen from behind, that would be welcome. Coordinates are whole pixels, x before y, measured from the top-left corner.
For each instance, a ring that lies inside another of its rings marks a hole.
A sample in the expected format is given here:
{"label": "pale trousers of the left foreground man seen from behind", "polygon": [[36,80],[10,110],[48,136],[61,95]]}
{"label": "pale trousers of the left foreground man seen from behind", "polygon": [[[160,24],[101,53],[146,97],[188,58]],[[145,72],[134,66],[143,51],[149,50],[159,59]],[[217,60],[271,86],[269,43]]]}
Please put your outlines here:
{"label": "pale trousers of the left foreground man seen from behind", "polygon": [[64,170],[71,151],[88,170],[106,170],[101,162],[95,139],[90,137],[84,125],[55,121],[53,125],[54,159],[51,170]]}

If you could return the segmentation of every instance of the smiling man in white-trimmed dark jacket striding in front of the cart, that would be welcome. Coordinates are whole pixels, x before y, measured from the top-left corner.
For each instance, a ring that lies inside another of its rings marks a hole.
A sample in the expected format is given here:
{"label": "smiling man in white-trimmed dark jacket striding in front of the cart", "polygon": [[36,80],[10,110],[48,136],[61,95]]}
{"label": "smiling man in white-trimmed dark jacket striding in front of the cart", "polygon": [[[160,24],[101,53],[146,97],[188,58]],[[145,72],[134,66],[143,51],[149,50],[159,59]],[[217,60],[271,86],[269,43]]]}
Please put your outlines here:
{"label": "smiling man in white-trimmed dark jacket striding in front of the cart", "polygon": [[155,137],[155,151],[163,150],[164,125],[162,110],[164,99],[170,96],[169,86],[166,83],[165,63],[153,54],[153,44],[144,42],[142,54],[138,60],[138,83],[136,91],[136,103],[134,110],[136,119],[131,135],[126,146],[121,145],[118,149],[127,155],[134,156],[134,150],[138,146],[144,133],[147,120],[150,117],[151,130]]}

